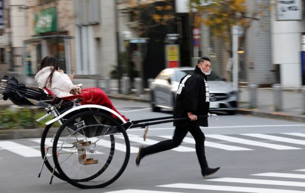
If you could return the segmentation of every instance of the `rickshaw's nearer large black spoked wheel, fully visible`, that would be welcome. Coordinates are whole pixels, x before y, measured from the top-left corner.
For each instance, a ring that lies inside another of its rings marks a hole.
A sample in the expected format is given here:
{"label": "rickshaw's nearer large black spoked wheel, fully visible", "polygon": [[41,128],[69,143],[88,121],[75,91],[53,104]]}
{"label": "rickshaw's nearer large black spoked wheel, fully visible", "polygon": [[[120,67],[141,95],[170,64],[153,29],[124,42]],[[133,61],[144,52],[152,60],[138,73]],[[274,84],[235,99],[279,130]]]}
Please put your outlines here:
{"label": "rickshaw's nearer large black spoked wheel, fully visible", "polygon": [[105,112],[78,113],[59,127],[52,148],[56,170],[80,188],[114,182],[125,170],[130,143],[123,126]]}

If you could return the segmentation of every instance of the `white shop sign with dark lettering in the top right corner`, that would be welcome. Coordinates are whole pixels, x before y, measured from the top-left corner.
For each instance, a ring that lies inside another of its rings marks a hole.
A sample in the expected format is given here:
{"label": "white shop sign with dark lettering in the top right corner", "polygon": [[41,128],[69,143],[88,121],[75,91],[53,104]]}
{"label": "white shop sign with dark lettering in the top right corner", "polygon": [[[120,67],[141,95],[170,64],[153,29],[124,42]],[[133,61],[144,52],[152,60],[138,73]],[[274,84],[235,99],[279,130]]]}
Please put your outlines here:
{"label": "white shop sign with dark lettering in the top right corner", "polygon": [[302,20],[301,0],[277,0],[277,19]]}

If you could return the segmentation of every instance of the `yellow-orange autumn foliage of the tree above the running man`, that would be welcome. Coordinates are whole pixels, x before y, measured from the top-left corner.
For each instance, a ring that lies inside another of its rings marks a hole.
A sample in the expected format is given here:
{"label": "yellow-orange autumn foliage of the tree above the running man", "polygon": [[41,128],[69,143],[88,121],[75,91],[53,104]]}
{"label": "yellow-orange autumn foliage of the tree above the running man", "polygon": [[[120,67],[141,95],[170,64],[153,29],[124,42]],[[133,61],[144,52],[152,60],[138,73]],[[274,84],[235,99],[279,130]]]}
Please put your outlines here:
{"label": "yellow-orange autumn foliage of the tree above the running man", "polygon": [[[212,36],[223,39],[229,45],[232,45],[232,26],[241,26],[245,31],[240,37],[240,45],[243,45],[246,31],[252,21],[259,21],[266,13],[266,9],[270,9],[267,1],[260,1],[262,3],[257,0],[253,1],[257,5],[256,10],[251,12],[246,5],[247,0],[189,0],[189,7],[191,10],[197,10],[197,14],[201,17],[200,23],[202,22],[210,28]],[[263,28],[263,24],[261,28]]]}

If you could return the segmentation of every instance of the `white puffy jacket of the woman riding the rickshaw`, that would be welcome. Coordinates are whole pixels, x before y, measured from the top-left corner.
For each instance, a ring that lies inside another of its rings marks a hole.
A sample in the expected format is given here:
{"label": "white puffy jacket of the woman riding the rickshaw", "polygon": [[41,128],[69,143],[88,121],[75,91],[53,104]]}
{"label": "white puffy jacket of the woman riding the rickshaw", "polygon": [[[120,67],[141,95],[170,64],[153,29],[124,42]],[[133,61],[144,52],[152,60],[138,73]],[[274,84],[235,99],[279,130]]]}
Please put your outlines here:
{"label": "white puffy jacket of the woman riding the rickshaw", "polygon": [[49,85],[48,77],[51,74],[53,67],[45,67],[40,70],[35,76],[35,81],[42,88],[46,87],[49,89],[56,97],[68,97],[71,96],[70,91],[75,87],[68,75],[65,73],[60,73],[54,71],[52,77],[52,85]]}

